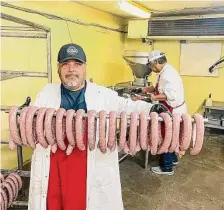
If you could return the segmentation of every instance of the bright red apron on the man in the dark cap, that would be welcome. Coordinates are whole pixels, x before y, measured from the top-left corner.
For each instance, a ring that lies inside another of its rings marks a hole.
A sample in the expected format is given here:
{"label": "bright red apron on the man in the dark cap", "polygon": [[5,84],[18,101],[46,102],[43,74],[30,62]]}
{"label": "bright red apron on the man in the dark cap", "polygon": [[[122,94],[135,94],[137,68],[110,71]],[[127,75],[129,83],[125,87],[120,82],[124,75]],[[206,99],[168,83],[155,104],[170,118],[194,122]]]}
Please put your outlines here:
{"label": "bright red apron on the man in the dark cap", "polygon": [[[84,128],[86,145],[87,126]],[[67,147],[67,138],[65,144]],[[47,210],[85,210],[86,177],[87,150],[80,151],[75,147],[68,156],[59,148],[55,154],[51,152]]]}

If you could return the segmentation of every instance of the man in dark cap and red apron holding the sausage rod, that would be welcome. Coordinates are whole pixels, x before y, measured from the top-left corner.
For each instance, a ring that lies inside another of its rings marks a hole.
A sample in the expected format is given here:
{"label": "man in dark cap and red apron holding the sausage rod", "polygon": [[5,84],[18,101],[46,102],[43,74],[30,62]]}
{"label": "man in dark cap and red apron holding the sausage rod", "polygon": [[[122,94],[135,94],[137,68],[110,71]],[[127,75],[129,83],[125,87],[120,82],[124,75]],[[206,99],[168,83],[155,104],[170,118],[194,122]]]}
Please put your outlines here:
{"label": "man in dark cap and red apron holding the sausage rod", "polygon": [[[47,84],[38,93],[35,106],[128,114],[158,111],[155,105],[124,99],[115,91],[86,80],[86,55],[77,44],[61,47],[58,74],[61,83]],[[98,140],[97,135],[96,143]],[[84,141],[86,144],[86,130]],[[53,154],[50,146],[44,149],[37,144],[32,155],[28,209],[123,210],[117,148],[106,154],[98,148],[75,148],[67,156],[59,148]]]}

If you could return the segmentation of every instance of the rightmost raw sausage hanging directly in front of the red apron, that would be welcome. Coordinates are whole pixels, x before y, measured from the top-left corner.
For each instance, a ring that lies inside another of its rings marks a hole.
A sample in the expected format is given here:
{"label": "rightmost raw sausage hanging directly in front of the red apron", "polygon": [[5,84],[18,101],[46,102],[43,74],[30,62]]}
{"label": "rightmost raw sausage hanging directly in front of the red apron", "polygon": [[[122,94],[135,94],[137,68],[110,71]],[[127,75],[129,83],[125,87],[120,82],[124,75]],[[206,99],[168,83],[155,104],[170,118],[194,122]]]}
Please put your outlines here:
{"label": "rightmost raw sausage hanging directly in front of the red apron", "polygon": [[83,141],[84,138],[84,130],[83,130],[83,115],[85,111],[83,109],[79,109],[76,112],[76,121],[75,121],[75,133],[76,133],[76,144],[79,150],[85,150],[85,144]]}

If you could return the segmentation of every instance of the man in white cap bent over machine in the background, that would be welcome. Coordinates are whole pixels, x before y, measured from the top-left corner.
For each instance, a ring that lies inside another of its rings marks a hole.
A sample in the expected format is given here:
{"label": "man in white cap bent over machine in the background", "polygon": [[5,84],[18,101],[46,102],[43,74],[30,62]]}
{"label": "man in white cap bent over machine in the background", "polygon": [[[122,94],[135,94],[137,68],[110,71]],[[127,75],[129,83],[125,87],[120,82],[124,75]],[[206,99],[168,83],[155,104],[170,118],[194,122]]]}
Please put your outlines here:
{"label": "man in white cap bent over machine in the background", "polygon": [[[186,113],[182,79],[174,67],[167,63],[165,54],[158,50],[152,51],[147,65],[157,74],[157,81],[155,87],[145,87],[142,92],[152,93],[151,100],[163,104],[171,113]],[[159,167],[152,167],[154,173],[173,175],[173,166],[178,164],[178,159],[175,153],[164,153],[160,155],[159,162]]]}

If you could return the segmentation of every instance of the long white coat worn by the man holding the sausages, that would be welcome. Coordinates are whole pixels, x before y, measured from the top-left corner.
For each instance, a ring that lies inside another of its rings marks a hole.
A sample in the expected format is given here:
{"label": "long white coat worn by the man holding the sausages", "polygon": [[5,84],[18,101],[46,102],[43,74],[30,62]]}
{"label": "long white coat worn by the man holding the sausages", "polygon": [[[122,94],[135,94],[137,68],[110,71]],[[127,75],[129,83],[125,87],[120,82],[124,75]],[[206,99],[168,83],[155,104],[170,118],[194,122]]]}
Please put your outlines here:
{"label": "long white coat worn by the man holding the sausages", "polygon": [[[87,110],[149,113],[152,104],[119,97],[115,91],[87,81],[85,92]],[[60,84],[48,84],[38,94],[35,106],[58,109],[61,103]],[[97,132],[98,133],[98,132]],[[99,136],[97,135],[97,141]],[[46,210],[50,170],[50,146],[39,144],[32,155],[29,188],[29,210]],[[118,150],[102,154],[99,149],[87,153],[87,210],[123,210]]]}

